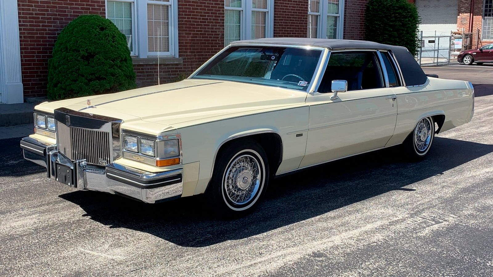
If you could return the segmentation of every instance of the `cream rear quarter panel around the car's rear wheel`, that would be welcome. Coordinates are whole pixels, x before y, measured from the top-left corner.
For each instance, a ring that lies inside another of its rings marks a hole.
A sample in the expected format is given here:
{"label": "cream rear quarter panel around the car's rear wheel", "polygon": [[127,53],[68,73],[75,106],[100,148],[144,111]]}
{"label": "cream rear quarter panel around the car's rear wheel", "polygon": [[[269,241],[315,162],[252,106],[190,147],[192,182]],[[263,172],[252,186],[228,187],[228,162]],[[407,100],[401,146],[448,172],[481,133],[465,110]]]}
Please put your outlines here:
{"label": "cream rear quarter panel around the car's rear wheel", "polygon": [[428,77],[423,86],[394,88],[397,96],[397,124],[387,145],[398,144],[423,117],[444,114],[440,132],[467,123],[471,117],[473,94],[468,82]]}

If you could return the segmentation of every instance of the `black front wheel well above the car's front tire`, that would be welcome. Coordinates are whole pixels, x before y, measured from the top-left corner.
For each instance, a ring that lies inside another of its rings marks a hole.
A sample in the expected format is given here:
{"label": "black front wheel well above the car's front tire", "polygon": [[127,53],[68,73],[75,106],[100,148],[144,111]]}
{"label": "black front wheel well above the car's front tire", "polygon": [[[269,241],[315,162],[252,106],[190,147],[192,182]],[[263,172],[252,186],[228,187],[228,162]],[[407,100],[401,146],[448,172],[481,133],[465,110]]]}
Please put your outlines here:
{"label": "black front wheel well above the car's front tire", "polygon": [[[221,152],[226,146],[239,143],[243,140],[252,140],[264,149],[267,154],[271,174],[276,174],[282,161],[282,139],[276,133],[253,134],[241,138],[233,138],[219,147],[217,153]],[[217,157],[217,155],[216,155]],[[214,164],[216,161],[214,161]]]}

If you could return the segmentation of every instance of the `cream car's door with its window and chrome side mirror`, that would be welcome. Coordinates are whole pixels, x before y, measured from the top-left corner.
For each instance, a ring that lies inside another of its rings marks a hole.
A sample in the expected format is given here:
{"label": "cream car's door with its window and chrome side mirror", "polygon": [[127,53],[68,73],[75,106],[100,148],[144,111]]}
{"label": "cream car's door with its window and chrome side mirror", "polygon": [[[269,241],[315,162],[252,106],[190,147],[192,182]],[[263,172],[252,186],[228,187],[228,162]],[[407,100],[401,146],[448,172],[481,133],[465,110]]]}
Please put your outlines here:
{"label": "cream car's door with its window and chrome side mirror", "polygon": [[[332,51],[318,91],[307,96],[308,141],[300,167],[382,148],[397,117],[395,94],[377,51]],[[348,91],[330,91],[332,80],[348,81]]]}

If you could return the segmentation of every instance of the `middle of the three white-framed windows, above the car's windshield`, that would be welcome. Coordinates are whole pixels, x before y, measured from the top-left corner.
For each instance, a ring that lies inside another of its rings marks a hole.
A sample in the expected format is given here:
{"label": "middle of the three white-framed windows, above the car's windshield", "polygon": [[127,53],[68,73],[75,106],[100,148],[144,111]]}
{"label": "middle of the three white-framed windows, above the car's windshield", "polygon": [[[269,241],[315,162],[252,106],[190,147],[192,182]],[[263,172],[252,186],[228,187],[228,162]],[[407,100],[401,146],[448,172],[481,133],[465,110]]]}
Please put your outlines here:
{"label": "middle of the three white-framed windows, above the car's windshield", "polygon": [[225,0],[224,45],[274,35],[274,0]]}

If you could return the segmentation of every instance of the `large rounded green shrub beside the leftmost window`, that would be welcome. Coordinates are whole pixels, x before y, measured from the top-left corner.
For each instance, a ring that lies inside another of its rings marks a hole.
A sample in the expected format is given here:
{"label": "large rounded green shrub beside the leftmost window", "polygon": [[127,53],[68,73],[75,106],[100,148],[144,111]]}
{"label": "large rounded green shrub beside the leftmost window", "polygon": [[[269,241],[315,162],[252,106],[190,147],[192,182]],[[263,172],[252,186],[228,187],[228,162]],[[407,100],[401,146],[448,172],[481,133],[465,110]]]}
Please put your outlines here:
{"label": "large rounded green shrub beside the leftmost window", "polygon": [[48,62],[48,99],[124,91],[136,87],[127,40],[108,19],[81,15],[58,36]]}

